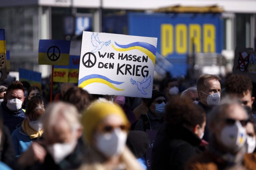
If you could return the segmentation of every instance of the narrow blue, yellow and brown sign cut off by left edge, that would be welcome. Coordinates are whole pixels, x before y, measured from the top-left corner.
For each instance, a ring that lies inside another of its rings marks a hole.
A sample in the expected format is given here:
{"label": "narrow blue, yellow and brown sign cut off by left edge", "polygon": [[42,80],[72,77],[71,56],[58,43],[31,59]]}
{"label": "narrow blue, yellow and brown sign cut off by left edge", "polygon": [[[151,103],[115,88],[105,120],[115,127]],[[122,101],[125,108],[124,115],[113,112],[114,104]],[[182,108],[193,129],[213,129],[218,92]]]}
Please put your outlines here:
{"label": "narrow blue, yellow and brown sign cut off by left edge", "polygon": [[0,28],[0,80],[7,78],[5,29]]}

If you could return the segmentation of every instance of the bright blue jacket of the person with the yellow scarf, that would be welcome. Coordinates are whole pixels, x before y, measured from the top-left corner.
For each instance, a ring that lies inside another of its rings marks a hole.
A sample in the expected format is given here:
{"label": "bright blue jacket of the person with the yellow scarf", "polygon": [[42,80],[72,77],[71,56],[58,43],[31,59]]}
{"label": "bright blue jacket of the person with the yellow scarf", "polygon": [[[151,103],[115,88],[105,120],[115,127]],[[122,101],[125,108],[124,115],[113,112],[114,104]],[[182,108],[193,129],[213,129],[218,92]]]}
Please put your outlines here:
{"label": "bright blue jacket of the person with the yellow scarf", "polygon": [[37,139],[30,139],[30,137],[23,131],[22,126],[17,128],[12,132],[12,142],[16,152],[16,157],[20,156],[23,152],[25,152],[32,142]]}

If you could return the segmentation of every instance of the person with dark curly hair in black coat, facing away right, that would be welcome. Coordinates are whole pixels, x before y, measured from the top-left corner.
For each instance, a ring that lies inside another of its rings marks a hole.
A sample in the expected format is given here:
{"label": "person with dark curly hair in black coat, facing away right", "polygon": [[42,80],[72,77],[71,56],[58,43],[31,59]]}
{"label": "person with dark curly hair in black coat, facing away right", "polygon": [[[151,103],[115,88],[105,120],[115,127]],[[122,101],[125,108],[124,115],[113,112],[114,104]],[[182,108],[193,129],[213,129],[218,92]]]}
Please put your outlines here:
{"label": "person with dark curly hair in black coat, facing away right", "polygon": [[183,170],[188,159],[203,150],[205,112],[190,98],[177,96],[166,105],[165,120],[153,146],[152,170]]}

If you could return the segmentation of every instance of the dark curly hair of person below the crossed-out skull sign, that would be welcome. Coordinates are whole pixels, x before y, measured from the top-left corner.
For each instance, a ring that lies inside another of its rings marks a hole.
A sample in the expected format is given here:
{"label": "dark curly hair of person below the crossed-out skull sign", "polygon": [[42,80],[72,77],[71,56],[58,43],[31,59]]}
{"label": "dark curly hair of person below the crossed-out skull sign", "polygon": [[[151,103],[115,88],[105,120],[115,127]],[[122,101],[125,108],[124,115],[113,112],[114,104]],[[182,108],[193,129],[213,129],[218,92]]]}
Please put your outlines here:
{"label": "dark curly hair of person below the crossed-out skull sign", "polygon": [[226,93],[247,94],[252,93],[252,81],[245,75],[231,75],[225,82]]}

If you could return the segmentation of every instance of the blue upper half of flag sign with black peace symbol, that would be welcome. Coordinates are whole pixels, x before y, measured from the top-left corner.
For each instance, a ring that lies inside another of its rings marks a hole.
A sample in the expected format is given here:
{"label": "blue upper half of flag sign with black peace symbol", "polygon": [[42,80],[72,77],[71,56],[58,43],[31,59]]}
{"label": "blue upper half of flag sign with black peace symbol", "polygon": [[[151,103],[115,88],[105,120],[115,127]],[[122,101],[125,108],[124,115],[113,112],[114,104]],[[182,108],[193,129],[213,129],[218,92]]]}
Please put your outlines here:
{"label": "blue upper half of flag sign with black peace symbol", "polygon": [[39,40],[38,53],[47,53],[52,46],[57,46],[61,54],[69,54],[70,41],[67,40]]}

